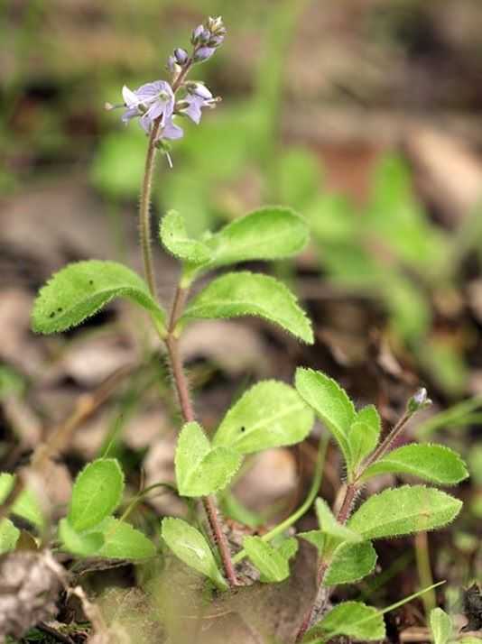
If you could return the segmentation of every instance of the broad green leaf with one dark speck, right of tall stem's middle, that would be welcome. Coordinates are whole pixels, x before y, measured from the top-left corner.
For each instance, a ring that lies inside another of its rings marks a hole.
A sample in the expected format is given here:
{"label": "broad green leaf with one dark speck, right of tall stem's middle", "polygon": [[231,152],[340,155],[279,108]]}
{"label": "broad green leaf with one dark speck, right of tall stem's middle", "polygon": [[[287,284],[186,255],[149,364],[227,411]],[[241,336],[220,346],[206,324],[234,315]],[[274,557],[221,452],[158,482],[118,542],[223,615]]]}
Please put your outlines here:
{"label": "broad green leaf with one dark speck, right of tall stem's middle", "polygon": [[312,426],[313,412],[290,385],[258,382],[227,411],[213,444],[249,454],[299,443]]}

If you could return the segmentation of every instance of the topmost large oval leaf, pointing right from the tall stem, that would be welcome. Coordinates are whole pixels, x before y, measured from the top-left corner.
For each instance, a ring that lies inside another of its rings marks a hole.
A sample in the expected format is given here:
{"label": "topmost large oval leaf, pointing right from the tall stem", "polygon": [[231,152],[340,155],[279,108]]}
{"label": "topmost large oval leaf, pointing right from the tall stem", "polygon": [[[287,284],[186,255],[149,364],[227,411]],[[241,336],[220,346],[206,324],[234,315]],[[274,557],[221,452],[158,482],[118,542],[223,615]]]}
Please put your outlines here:
{"label": "topmost large oval leaf, pointing right from the tall stem", "polygon": [[307,225],[291,208],[260,208],[212,235],[207,241],[213,252],[209,267],[292,257],[302,251],[308,237]]}

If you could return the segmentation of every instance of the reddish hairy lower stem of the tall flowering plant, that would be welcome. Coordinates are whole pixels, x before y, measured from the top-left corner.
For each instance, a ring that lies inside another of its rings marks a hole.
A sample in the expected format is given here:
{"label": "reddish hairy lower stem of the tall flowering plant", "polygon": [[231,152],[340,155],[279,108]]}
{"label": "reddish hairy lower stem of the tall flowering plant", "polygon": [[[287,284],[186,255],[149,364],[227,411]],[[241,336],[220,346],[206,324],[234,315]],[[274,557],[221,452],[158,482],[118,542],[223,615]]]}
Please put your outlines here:
{"label": "reddish hairy lower stem of the tall flowering plant", "polygon": [[[176,327],[177,320],[179,319],[179,317],[181,317],[182,308],[187,298],[187,294],[188,290],[182,289],[180,286],[176,290],[176,295],[174,297],[174,303],[171,310],[166,345],[171,362],[172,377],[181,406],[182,417],[185,422],[190,422],[194,420],[194,411],[190,402],[189,385],[186,379],[186,374],[184,373],[184,369],[182,367],[181,354],[179,351],[179,341],[178,338],[174,335],[174,329]],[[236,570],[231,559],[227,537],[223,531],[221,521],[219,520],[216,498],[214,497],[214,495],[204,496],[202,497],[202,504],[209,520],[210,529],[212,530],[212,533],[216,538],[216,542],[218,543],[219,554],[223,562],[227,580],[230,586],[234,587],[237,585]]]}

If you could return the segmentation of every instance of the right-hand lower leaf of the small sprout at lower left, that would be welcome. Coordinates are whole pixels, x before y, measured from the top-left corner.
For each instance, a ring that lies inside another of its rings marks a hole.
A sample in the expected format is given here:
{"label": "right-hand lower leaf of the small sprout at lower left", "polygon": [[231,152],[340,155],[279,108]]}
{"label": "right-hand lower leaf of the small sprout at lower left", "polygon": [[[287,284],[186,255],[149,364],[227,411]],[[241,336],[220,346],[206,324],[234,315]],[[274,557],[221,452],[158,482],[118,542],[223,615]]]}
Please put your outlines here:
{"label": "right-hand lower leaf of the small sprout at lower left", "polygon": [[96,526],[104,537],[104,545],[97,552],[97,557],[107,559],[148,559],[154,557],[153,542],[129,523],[107,517]]}

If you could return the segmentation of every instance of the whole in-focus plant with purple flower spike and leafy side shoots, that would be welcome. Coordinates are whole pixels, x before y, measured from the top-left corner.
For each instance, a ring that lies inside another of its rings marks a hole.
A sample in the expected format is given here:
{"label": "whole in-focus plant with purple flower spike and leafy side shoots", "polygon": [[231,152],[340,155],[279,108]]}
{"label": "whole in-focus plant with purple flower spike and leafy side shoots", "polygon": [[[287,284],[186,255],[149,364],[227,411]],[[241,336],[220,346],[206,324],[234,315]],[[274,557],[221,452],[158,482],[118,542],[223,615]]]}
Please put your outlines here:
{"label": "whole in-focus plant with purple flower spike and leafy side shoots", "polygon": [[[290,575],[290,560],[299,540],[317,550],[314,576],[317,593],[309,610],[300,615],[296,641],[324,642],[338,635],[352,639],[383,639],[383,612],[360,602],[338,603],[329,610],[329,593],[338,584],[355,583],[372,573],[376,553],[373,541],[440,528],[458,515],[461,501],[423,485],[403,485],[370,496],[357,506],[366,482],[380,474],[411,474],[431,483],[450,485],[467,476],[455,452],[438,445],[410,444],[394,448],[407,421],[430,404],[424,390],[408,401],[402,418],[382,438],[382,422],[373,405],[356,409],[346,391],[320,371],[299,368],[294,386],[264,381],[244,393],[227,410],[216,431],[208,436],[196,419],[184,372],[180,339],[194,319],[262,317],[298,338],[314,341],[311,322],[297,299],[281,281],[263,273],[229,271],[205,282],[190,298],[190,288],[200,276],[239,262],[272,261],[300,253],[308,242],[307,226],[286,207],[264,207],[241,217],[215,233],[194,239],[186,232],[181,214],[162,217],[160,239],[181,265],[181,277],[170,311],[157,295],[151,246],[150,196],[155,153],[161,150],[171,164],[170,141],[183,131],[181,118],[199,124],[202,110],[213,107],[208,87],[188,80],[190,69],[214,54],[225,38],[221,18],[209,18],[191,35],[192,50],[176,49],[168,60],[171,80],[156,80],[134,91],[124,87],[128,124],[138,118],[148,135],[139,221],[144,279],[117,262],[91,260],[70,264],[56,273],[40,291],[32,311],[36,332],[61,332],[82,323],[110,300],[129,299],[144,309],[166,348],[179,399],[183,424],[175,453],[176,491],[200,501],[208,523],[164,517],[161,534],[164,551],[196,570],[219,592],[248,584],[240,563],[249,559],[261,583],[279,583]],[[113,106],[108,106],[112,108]],[[291,446],[311,433],[315,416],[325,431],[311,491],[292,516],[261,535],[246,536],[233,553],[228,529],[218,510],[217,494],[227,489],[246,455],[270,447]],[[336,442],[345,467],[334,511],[317,498],[330,438]],[[14,478],[3,474],[3,490]],[[67,516],[60,520],[56,538],[60,547],[76,557],[125,558],[134,561],[160,553],[141,531],[114,513],[122,500],[124,474],[116,459],[98,459],[77,477]],[[42,525],[42,513],[29,491],[12,505],[14,513]],[[288,529],[315,505],[318,528],[290,536]],[[9,520],[0,523],[0,544],[13,549],[19,533]]]}

